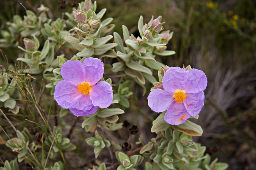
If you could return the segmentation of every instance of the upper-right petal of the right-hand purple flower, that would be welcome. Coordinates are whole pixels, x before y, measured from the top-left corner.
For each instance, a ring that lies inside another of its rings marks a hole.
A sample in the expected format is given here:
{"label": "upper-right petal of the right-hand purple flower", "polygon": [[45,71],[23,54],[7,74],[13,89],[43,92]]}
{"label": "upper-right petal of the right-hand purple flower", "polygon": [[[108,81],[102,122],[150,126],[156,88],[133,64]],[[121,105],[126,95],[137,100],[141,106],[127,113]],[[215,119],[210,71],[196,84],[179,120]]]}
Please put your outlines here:
{"label": "upper-right petal of the right-hand purple flower", "polygon": [[199,93],[206,89],[207,78],[203,71],[193,68],[187,71],[188,79],[183,90],[188,93]]}

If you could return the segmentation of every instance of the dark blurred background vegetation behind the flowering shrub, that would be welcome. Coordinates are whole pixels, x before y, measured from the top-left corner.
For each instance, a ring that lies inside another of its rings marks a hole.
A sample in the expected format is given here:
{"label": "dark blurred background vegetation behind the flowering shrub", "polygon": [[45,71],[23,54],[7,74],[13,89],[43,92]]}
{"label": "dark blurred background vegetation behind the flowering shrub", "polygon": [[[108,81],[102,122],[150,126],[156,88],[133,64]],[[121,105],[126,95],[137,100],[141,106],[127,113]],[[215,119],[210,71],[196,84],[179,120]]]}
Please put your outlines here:
{"label": "dark blurred background vegetation behind the flowering shrub", "polygon": [[[78,4],[80,1],[75,2]],[[60,9],[59,2],[61,1],[1,0],[0,30],[6,29],[6,22],[12,21],[13,15],[25,15],[25,9],[20,3],[35,13],[36,8],[44,4],[50,8],[50,14],[56,20],[61,17],[62,12],[72,11],[69,6]],[[143,15],[144,23],[148,23],[152,15],[155,18],[162,15],[164,29],[174,31],[168,49],[176,51],[176,54],[157,57],[157,60],[168,66],[191,65],[192,68],[203,70],[208,78],[208,86],[204,91],[205,106],[196,120],[204,133],[194,140],[205,145],[212,158],[218,157],[219,161],[227,162],[230,170],[256,169],[256,1],[98,0],[97,6],[97,11],[107,8],[105,17],[114,19],[114,31],[120,35],[121,26],[126,25],[130,33],[138,36],[137,23],[140,15]],[[17,48],[1,49],[9,62],[16,60],[20,52]],[[0,62],[3,62],[3,58]],[[134,90],[136,95],[130,98],[131,110],[121,116],[119,122],[127,120],[130,124],[138,125],[143,140],[147,142],[153,135],[148,133],[150,120],[158,114],[152,113],[148,107],[148,94],[141,96],[142,92],[138,89]],[[133,119],[135,115],[138,119]],[[72,120],[69,118],[64,117],[65,125],[71,125]],[[18,119],[18,115],[13,118],[14,121],[15,119]],[[143,119],[146,121],[141,122]],[[79,119],[79,122],[82,121]],[[64,125],[63,122],[62,124]],[[18,128],[22,130],[23,126],[17,121]],[[80,123],[77,123],[73,136],[83,133]],[[72,138],[71,140],[74,141]],[[88,147],[84,140],[78,141],[77,151],[82,146]],[[8,159],[9,151],[0,149],[0,155]],[[84,155],[70,155],[74,160],[71,164],[79,162]]]}

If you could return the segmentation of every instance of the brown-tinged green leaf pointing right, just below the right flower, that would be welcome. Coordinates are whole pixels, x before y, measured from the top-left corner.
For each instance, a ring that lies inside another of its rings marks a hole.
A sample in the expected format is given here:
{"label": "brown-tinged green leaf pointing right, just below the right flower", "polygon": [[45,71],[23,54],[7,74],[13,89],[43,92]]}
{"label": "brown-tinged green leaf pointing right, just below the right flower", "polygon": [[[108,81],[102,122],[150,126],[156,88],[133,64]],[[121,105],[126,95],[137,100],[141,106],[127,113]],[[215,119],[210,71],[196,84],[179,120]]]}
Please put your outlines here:
{"label": "brown-tinged green leaf pointing right, just below the right flower", "polygon": [[201,136],[203,134],[203,129],[199,125],[188,120],[184,124],[171,126],[174,128],[174,130],[181,131],[190,136]]}

